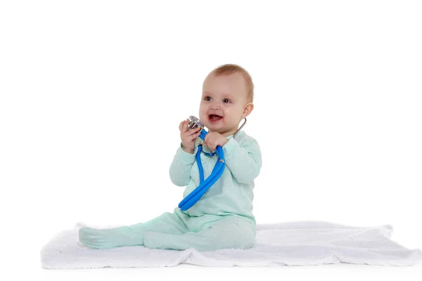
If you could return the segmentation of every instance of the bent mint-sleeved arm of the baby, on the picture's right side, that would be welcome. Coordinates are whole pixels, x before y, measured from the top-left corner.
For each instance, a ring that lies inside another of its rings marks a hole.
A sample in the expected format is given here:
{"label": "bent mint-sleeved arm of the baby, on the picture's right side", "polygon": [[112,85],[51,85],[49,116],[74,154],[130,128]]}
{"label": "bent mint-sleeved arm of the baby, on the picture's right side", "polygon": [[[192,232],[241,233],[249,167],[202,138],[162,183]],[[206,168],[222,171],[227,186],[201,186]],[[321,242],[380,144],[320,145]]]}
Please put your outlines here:
{"label": "bent mint-sleeved arm of the baby, on the picture's right side", "polygon": [[260,174],[261,150],[254,138],[246,136],[240,143],[231,138],[223,150],[226,166],[238,183],[252,183]]}

